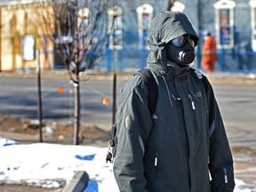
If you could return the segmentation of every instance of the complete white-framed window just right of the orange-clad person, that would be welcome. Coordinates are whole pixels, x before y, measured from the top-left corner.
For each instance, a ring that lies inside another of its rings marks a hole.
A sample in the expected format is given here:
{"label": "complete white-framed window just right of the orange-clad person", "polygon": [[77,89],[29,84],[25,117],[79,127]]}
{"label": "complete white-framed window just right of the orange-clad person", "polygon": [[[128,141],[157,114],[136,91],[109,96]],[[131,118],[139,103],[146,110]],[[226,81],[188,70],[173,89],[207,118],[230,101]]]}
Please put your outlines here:
{"label": "complete white-framed window just right of the orange-clad person", "polygon": [[231,49],[234,46],[234,7],[231,0],[220,0],[214,4],[215,28],[218,48]]}

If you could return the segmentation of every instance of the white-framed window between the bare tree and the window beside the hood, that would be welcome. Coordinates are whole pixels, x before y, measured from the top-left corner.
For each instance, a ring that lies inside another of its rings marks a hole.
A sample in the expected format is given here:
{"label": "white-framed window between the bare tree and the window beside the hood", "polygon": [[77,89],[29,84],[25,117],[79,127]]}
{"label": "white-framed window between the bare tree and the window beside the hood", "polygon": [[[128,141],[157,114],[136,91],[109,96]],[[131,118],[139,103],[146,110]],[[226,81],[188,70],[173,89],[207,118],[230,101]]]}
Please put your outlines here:
{"label": "white-framed window between the bare tree and the window beside the hood", "polygon": [[109,33],[109,48],[123,48],[123,22],[122,8],[114,6],[108,9],[108,33]]}

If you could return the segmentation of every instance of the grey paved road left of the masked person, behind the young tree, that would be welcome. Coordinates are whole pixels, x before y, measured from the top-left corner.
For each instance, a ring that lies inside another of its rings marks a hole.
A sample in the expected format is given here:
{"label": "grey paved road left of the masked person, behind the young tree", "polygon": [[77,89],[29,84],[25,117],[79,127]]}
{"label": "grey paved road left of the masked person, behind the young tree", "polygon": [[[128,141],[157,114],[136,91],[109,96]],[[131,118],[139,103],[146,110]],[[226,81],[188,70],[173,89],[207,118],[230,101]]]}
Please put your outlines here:
{"label": "grey paved road left of the masked person, behind the young tree", "polygon": [[[58,88],[63,87],[60,94]],[[0,78],[0,113],[15,117],[38,118],[37,81],[31,78]],[[112,82],[81,82],[81,122],[99,124],[108,129],[112,124]],[[119,87],[117,88],[119,89]],[[102,99],[108,96],[109,105]],[[73,120],[73,85],[67,79],[42,79],[43,119],[68,122]]]}

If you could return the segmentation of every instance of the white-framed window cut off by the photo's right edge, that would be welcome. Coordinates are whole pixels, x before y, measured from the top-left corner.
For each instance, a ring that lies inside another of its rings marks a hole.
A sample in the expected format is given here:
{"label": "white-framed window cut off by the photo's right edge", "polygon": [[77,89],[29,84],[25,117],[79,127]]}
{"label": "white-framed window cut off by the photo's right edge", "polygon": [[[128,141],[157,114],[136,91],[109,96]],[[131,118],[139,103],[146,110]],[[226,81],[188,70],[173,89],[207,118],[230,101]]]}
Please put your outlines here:
{"label": "white-framed window cut off by the photo's right edge", "polygon": [[252,26],[252,50],[256,51],[256,0],[249,2],[251,6],[251,26]]}

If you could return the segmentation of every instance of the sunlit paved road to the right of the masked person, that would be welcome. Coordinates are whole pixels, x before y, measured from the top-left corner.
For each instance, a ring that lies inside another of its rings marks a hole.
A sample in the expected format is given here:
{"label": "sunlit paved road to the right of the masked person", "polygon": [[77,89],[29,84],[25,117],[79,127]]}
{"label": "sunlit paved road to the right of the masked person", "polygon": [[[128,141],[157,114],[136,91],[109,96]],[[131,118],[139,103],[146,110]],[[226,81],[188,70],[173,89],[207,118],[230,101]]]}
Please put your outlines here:
{"label": "sunlit paved road to the right of the masked person", "polygon": [[213,84],[229,141],[256,148],[256,84]]}

